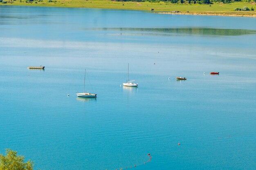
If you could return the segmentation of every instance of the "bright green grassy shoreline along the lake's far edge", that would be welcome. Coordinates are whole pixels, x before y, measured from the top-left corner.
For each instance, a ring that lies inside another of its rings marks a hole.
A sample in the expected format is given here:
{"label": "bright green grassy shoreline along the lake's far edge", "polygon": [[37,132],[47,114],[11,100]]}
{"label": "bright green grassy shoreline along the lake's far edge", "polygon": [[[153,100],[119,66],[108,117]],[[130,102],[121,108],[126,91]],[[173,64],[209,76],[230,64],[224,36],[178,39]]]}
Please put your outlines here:
{"label": "bright green grassy shoreline along the lake's far edge", "polygon": [[[60,0],[55,2],[34,1],[26,3],[25,0],[11,1],[0,5],[18,5],[18,6],[38,6],[38,7],[81,7],[81,8],[101,8],[101,9],[129,9],[129,10],[144,10],[154,13],[164,14],[183,14],[183,15],[224,15],[224,16],[245,16],[256,17],[255,2],[231,2],[214,4],[171,4],[166,2],[116,2],[112,0]],[[35,3],[36,2],[36,3]],[[235,8],[253,7],[255,11],[234,11]],[[172,11],[180,11],[180,13],[172,13]]]}

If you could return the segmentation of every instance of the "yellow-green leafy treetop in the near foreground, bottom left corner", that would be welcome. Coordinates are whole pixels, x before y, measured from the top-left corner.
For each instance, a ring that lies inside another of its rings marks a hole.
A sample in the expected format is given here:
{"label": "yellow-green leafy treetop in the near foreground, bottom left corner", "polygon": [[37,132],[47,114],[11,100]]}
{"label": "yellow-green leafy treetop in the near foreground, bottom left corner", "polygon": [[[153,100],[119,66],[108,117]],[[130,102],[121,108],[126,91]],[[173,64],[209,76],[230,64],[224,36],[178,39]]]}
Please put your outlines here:
{"label": "yellow-green leafy treetop in the near foreground, bottom left corner", "polygon": [[17,155],[17,151],[6,149],[5,156],[0,154],[0,170],[33,170],[34,163]]}

